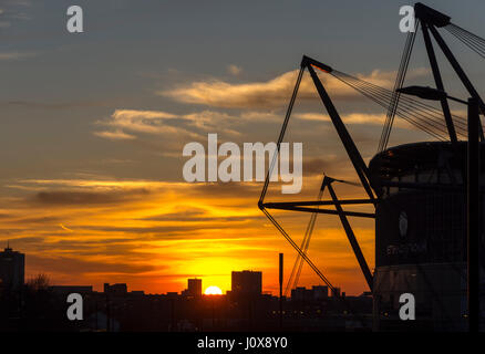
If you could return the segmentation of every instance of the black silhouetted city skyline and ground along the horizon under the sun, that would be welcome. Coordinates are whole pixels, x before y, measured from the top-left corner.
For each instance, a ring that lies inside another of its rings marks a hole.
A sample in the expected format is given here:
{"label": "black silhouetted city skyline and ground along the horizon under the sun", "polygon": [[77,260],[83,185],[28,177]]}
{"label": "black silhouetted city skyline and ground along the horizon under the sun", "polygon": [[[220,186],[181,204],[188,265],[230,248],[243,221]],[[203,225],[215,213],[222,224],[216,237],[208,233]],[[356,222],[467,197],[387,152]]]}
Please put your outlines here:
{"label": "black silhouetted city skyline and ground along the horizon under the sun", "polygon": [[[8,253],[9,257],[19,254],[10,249]],[[6,252],[0,254],[4,257]],[[177,292],[128,292],[126,283],[105,283],[104,292],[93,291],[92,285],[52,285],[49,291],[25,288],[17,294],[0,292],[0,332],[280,330],[280,298],[262,293],[262,273],[241,271],[231,275],[233,290],[220,296],[198,296],[203,289],[200,279],[188,279],[188,289],[182,295]],[[282,321],[286,330],[362,329],[360,323],[349,321],[340,301],[328,298],[328,287],[298,288],[297,291],[303,301],[285,301]],[[70,293],[83,296],[83,321],[65,317],[65,300]],[[359,314],[370,317],[372,296],[349,296],[347,300]],[[370,329],[370,323],[365,326]]]}

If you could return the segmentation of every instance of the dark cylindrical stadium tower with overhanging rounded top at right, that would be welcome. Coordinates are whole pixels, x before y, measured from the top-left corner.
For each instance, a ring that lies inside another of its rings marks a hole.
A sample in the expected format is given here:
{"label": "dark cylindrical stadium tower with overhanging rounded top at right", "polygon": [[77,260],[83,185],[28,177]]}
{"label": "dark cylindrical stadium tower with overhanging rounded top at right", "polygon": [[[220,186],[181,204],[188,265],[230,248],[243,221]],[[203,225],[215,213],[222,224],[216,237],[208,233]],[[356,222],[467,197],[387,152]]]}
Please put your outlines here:
{"label": "dark cylindrical stadium tower with overhanging rounded top at right", "polygon": [[[466,330],[466,142],[424,142],[390,147],[370,162],[371,176],[386,185],[375,209],[376,330],[405,327],[404,292],[415,298],[416,330]],[[479,155],[484,166],[483,143]]]}

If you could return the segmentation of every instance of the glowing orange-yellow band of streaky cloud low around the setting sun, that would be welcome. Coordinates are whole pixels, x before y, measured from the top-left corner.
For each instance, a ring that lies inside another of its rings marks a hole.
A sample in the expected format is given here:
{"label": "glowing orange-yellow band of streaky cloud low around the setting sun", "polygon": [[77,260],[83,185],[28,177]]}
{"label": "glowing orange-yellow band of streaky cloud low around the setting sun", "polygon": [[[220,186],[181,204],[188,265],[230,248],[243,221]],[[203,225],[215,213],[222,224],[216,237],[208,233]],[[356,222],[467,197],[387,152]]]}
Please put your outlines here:
{"label": "glowing orange-yellow band of streaky cloud low around the setting sun", "polygon": [[[320,176],[314,178],[311,195],[319,180]],[[226,291],[233,270],[254,269],[264,272],[265,290],[276,291],[278,252],[287,254],[288,272],[296,254],[257,208],[259,184],[18,183],[35,188],[25,189],[25,199],[9,202],[6,209],[0,205],[0,210],[9,210],[2,217],[0,239],[9,238],[27,253],[28,274],[47,272],[54,283],[100,289],[103,282],[127,282],[130,289],[159,293],[180,291],[186,278],[199,277],[204,287]],[[35,218],[28,220],[32,215]],[[299,241],[309,215],[275,215]],[[364,284],[338,219],[322,217],[318,222],[312,260],[349,293],[361,292]],[[372,260],[369,228],[372,225],[361,225],[358,237]],[[75,230],[74,237],[66,229]],[[316,283],[318,278],[305,270],[302,284]]]}

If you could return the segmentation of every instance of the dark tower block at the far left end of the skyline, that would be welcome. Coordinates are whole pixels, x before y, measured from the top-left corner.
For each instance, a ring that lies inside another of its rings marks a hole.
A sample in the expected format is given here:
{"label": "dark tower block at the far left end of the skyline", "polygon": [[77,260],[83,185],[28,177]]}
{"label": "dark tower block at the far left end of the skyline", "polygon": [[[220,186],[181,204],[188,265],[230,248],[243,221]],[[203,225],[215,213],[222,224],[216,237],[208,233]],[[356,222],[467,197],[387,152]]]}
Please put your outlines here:
{"label": "dark tower block at the far left end of the skyline", "polygon": [[22,288],[25,273],[25,254],[7,246],[0,252],[0,280],[3,290],[16,291]]}

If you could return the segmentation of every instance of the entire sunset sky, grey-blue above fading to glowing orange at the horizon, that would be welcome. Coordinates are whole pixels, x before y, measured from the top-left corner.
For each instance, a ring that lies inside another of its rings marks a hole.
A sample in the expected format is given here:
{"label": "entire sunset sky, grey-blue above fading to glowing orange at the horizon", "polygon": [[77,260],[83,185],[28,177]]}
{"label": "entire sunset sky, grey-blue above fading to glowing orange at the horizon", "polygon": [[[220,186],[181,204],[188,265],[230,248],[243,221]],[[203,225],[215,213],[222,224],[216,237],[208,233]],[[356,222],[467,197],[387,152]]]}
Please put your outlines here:
{"label": "entire sunset sky, grey-blue above fading to glowing orange at the horizon", "polygon": [[[405,41],[399,7],[409,3],[0,0],[1,248],[9,240],[27,254],[27,278],[54,284],[164,293],[197,277],[226,291],[230,272],[248,269],[276,294],[278,253],[286,275],[296,253],[257,208],[262,184],[188,184],[183,147],[206,146],[208,133],[239,146],[275,142],[302,54],[392,87]],[[84,10],[82,34],[65,30],[71,4]],[[485,34],[483,1],[426,4]],[[482,88],[483,63],[467,53],[458,59]],[[432,85],[430,74],[420,33],[407,83]],[[448,65],[443,76],[455,80]],[[368,162],[385,112],[321,80]],[[396,121],[391,145],[424,139]],[[323,171],[357,180],[308,73],[285,140],[303,143],[303,188],[281,196],[276,185],[267,201],[314,199]],[[310,215],[275,215],[299,243]],[[373,221],[351,222],[373,268]],[[367,290],[337,217],[319,216],[309,256],[333,285]],[[301,285],[319,283],[303,268]]]}

